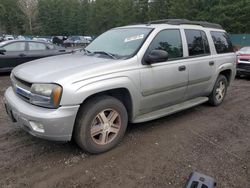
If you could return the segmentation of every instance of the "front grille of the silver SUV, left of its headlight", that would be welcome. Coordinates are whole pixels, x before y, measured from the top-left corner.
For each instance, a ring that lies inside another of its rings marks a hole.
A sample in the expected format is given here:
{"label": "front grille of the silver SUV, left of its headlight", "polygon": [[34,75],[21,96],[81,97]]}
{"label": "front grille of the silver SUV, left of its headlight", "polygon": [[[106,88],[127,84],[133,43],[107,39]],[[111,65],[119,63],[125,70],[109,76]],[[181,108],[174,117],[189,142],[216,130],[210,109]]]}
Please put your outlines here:
{"label": "front grille of the silver SUV, left of its headlight", "polygon": [[31,97],[31,83],[11,75],[11,83],[14,92],[23,100],[29,102]]}

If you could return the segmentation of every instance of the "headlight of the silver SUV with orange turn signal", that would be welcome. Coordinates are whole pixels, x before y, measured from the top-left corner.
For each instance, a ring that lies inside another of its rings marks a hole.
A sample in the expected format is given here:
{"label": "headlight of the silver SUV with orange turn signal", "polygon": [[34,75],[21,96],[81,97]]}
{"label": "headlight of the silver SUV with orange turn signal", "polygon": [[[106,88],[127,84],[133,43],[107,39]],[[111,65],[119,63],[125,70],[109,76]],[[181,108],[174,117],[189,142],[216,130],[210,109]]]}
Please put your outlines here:
{"label": "headlight of the silver SUV with orange turn signal", "polygon": [[47,108],[58,108],[62,96],[62,87],[57,84],[32,84],[32,104]]}

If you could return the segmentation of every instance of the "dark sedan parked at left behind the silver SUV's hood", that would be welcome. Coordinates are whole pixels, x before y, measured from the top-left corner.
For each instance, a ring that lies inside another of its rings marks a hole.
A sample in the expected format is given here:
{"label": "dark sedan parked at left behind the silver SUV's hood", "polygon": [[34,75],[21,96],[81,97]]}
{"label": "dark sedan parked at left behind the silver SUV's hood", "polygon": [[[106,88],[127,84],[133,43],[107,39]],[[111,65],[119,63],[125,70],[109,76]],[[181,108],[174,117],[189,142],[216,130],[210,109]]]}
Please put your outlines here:
{"label": "dark sedan parked at left behind the silver SUV's hood", "polygon": [[15,66],[28,61],[70,52],[70,50],[47,42],[29,40],[1,42],[0,72],[9,72]]}

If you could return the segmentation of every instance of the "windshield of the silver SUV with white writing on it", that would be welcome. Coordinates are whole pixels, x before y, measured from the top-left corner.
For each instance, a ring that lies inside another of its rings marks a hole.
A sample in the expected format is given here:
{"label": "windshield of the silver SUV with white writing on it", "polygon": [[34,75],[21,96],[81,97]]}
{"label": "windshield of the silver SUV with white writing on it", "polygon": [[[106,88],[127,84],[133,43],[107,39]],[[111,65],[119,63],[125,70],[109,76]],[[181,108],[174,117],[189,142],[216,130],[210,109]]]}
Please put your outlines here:
{"label": "windshield of the silver SUV with white writing on it", "polygon": [[109,30],[86,47],[90,53],[105,52],[116,58],[129,58],[141,47],[152,29],[120,28]]}

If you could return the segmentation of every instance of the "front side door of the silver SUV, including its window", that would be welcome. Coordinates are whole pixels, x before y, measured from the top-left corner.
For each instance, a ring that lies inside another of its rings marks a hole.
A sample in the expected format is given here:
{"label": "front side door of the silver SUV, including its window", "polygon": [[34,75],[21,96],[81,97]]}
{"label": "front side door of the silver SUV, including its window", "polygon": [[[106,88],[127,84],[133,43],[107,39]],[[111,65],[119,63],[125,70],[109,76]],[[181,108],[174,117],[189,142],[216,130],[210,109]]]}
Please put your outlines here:
{"label": "front side door of the silver SUV, including its window", "polygon": [[141,113],[161,109],[183,100],[188,84],[188,70],[183,58],[182,36],[179,29],[160,31],[148,47],[164,50],[169,54],[168,61],[145,64],[141,76]]}

